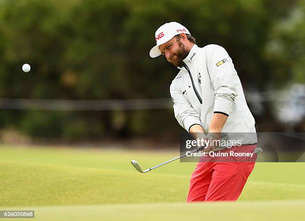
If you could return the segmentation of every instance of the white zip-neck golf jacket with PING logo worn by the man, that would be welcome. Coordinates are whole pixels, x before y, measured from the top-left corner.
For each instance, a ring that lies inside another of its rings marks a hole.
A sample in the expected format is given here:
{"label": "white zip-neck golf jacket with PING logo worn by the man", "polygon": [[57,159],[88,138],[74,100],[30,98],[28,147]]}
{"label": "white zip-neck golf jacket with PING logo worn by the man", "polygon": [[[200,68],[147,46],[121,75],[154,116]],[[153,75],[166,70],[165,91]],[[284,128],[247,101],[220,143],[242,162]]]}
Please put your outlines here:
{"label": "white zip-neck golf jacket with PING logo worn by the man", "polygon": [[[251,132],[255,137],[243,144],[256,143],[255,120],[244,96],[232,59],[219,45],[194,45],[183,60],[170,85],[173,109],[179,124],[189,132],[194,124],[208,132],[214,112],[228,115],[222,132]],[[187,70],[189,69],[189,70]]]}

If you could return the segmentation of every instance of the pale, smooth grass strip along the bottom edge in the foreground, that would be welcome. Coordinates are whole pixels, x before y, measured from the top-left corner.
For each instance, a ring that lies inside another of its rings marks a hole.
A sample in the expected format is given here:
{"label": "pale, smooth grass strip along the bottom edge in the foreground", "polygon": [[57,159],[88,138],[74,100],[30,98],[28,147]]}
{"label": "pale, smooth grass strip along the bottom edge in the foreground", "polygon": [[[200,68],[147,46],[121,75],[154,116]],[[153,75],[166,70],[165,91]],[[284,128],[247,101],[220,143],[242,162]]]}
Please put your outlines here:
{"label": "pale, smooth grass strip along the bottom edge in the foreground", "polygon": [[[304,208],[305,201],[303,200],[9,209],[34,210],[35,221],[304,221]],[[3,210],[3,208],[0,209]],[[27,221],[28,219],[18,220]]]}

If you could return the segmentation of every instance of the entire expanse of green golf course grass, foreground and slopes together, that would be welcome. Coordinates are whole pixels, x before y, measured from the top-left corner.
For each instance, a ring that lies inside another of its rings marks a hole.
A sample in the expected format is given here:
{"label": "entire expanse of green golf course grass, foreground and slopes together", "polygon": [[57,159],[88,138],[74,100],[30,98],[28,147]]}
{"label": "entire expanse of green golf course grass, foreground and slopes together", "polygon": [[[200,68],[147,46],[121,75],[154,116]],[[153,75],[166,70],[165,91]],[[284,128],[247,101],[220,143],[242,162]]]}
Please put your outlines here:
{"label": "entire expanse of green golf course grass, foreground and slopes together", "polygon": [[147,174],[130,163],[136,159],[146,169],[178,154],[2,145],[0,207],[34,208],[38,220],[86,220],[87,213],[87,220],[207,220],[213,214],[220,220],[228,213],[229,220],[247,214],[257,220],[261,213],[263,220],[288,220],[287,210],[305,218],[305,163],[256,163],[238,202],[189,205],[195,163],[172,162]]}

